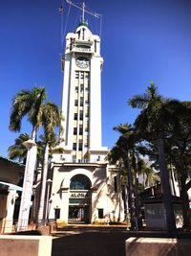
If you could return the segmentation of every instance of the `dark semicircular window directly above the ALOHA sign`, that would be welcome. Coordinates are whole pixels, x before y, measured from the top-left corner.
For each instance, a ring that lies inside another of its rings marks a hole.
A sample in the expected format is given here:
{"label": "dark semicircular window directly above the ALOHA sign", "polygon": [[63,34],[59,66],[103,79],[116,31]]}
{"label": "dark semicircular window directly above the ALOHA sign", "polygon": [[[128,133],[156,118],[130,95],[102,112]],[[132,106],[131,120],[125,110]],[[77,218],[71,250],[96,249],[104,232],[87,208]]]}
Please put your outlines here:
{"label": "dark semicircular window directly above the ALOHA sign", "polygon": [[70,190],[89,190],[91,181],[86,175],[74,175],[71,179]]}

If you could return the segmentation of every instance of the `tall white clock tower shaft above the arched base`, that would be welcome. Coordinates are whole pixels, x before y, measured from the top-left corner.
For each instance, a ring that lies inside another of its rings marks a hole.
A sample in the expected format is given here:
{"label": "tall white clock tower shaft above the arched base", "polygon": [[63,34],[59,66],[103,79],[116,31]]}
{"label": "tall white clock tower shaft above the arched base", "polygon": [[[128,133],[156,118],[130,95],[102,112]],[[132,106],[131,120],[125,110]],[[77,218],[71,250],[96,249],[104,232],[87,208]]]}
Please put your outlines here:
{"label": "tall white clock tower shaft above the arched base", "polygon": [[66,36],[62,58],[64,71],[61,144],[67,161],[103,160],[108,150],[101,147],[100,38],[82,21],[75,33]]}

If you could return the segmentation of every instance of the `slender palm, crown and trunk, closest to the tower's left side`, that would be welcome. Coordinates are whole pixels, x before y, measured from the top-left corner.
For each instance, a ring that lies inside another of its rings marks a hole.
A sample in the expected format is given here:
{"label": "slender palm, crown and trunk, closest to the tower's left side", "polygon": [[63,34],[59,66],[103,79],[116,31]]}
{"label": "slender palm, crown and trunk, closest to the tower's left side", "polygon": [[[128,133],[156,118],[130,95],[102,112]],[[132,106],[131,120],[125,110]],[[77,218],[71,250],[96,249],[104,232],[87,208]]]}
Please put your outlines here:
{"label": "slender palm, crown and trunk, closest to the tower's left side", "polygon": [[[49,164],[49,152],[50,149],[53,148],[56,144],[56,134],[54,129],[56,127],[60,128],[62,117],[61,111],[59,107],[53,102],[46,103],[42,106],[41,111],[41,125],[44,128],[44,142],[45,142],[45,151],[44,151],[44,161],[42,167],[42,178],[41,178],[41,194],[40,194],[40,202],[38,209],[38,223],[47,218],[47,216],[43,216],[44,213],[47,213],[47,207],[45,205],[45,195],[46,195],[46,181],[48,174],[48,164]],[[47,195],[47,200],[49,195]],[[45,211],[44,211],[45,210]]]}

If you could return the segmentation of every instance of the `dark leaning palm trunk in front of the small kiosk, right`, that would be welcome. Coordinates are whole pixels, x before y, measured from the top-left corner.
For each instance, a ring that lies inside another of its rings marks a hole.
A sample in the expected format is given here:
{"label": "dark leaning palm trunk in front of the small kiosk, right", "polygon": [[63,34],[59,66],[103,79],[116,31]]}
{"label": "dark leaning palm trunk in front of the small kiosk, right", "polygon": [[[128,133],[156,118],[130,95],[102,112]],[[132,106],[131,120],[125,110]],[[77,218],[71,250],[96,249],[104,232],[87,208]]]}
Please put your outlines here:
{"label": "dark leaning palm trunk in front of the small kiosk, right", "polygon": [[158,152],[159,152],[159,170],[160,170],[160,178],[161,185],[163,191],[163,203],[166,215],[166,224],[168,235],[170,237],[175,237],[176,235],[176,222],[175,222],[175,214],[174,207],[172,202],[171,189],[169,184],[169,175],[165,163],[165,155],[164,155],[164,141],[162,134],[158,136]]}

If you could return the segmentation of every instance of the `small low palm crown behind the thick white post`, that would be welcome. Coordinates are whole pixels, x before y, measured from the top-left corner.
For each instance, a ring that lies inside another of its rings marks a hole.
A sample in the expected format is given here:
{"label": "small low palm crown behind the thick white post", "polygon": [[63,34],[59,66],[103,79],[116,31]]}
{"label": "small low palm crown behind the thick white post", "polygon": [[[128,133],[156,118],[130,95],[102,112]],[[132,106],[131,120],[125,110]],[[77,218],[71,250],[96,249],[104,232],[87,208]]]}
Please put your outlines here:
{"label": "small low palm crown behind the thick white post", "polygon": [[23,145],[23,142],[28,141],[29,139],[31,139],[31,137],[28,133],[21,133],[18,138],[14,140],[14,144],[8,149],[8,155],[11,160],[18,159],[19,162],[22,162],[23,164],[26,163],[27,149]]}

